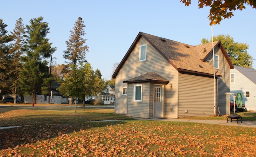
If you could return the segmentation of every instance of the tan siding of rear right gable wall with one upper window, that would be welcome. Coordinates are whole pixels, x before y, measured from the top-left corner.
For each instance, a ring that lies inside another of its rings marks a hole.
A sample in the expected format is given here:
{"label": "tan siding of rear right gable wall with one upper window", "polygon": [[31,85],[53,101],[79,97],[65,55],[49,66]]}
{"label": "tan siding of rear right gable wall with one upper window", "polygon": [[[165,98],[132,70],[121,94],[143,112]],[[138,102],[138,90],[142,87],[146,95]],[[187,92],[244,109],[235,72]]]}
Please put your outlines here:
{"label": "tan siding of rear right gable wall with one upper window", "polygon": [[[227,94],[230,92],[230,65],[224,57],[220,47],[215,47],[214,54],[219,55],[219,71],[222,77],[218,77],[218,102],[217,112],[220,111],[220,115],[230,114],[229,98]],[[212,53],[207,57],[206,60],[210,60],[210,64],[213,66]]]}

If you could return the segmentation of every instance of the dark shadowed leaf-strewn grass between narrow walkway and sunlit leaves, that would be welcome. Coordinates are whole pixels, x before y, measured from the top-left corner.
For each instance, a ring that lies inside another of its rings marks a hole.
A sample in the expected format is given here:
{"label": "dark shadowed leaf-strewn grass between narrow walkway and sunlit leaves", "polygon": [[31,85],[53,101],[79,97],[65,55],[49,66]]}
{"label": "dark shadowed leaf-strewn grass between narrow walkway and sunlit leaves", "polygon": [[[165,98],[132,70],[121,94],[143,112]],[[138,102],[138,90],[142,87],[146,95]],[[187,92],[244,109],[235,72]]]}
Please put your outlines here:
{"label": "dark shadowed leaf-strewn grass between narrow walkway and sunlit leaves", "polygon": [[86,130],[95,127],[105,127],[116,124],[125,124],[123,120],[107,122],[81,122],[80,124],[33,124],[10,129],[0,130],[0,149],[14,148],[18,145],[36,143],[58,137],[74,131]]}

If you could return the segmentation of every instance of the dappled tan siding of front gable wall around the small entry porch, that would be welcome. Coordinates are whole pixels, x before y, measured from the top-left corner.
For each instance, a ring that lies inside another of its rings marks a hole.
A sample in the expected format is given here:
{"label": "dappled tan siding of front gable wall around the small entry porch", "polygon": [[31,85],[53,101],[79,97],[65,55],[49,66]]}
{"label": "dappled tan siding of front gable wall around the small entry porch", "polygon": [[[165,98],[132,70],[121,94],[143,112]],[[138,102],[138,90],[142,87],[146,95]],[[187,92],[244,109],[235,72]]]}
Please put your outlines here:
{"label": "dappled tan siding of front gable wall around the small entry porch", "polygon": [[[146,53],[146,61],[139,61],[139,45],[147,44],[147,53]],[[166,59],[150,45],[143,37],[140,38],[132,52],[130,53],[129,57],[126,59],[124,65],[116,75],[116,102],[115,102],[115,113],[118,114],[126,114],[129,111],[129,115],[137,116],[138,113],[136,112],[147,112],[147,116],[153,110],[151,98],[148,97],[148,109],[146,111],[145,108],[143,110],[136,110],[134,109],[135,106],[128,104],[127,106],[127,99],[130,101],[130,97],[122,95],[122,87],[127,86],[126,83],[123,81],[128,80],[130,78],[138,77],[140,75],[144,75],[148,72],[154,72],[162,77],[170,80],[170,83],[166,85],[167,95],[166,95],[166,103],[164,104],[164,108],[166,108],[166,117],[168,118],[177,118],[177,94],[178,94],[178,73],[172,65],[166,61]],[[170,84],[173,84],[173,88],[170,88]],[[128,93],[133,90],[133,86],[128,88]],[[144,86],[143,86],[144,88]],[[148,88],[148,94],[149,86]],[[144,91],[143,91],[144,94]],[[144,98],[144,97],[143,97]],[[133,98],[132,98],[133,100]],[[131,105],[131,106],[130,106]],[[144,105],[144,104],[143,104]],[[149,108],[150,106],[150,108]],[[170,110],[172,108],[172,111]],[[127,110],[128,109],[128,110]],[[134,113],[132,113],[134,112]],[[144,113],[139,113],[145,115]],[[151,117],[150,117],[151,118]]]}

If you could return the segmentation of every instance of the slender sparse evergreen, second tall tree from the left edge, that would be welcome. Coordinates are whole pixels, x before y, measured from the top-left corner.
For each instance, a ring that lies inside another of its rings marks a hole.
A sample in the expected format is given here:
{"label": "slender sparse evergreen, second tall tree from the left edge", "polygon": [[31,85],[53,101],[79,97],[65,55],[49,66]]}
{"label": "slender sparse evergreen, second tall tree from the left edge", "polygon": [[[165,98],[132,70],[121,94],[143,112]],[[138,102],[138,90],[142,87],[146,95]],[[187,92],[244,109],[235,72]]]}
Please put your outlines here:
{"label": "slender sparse evergreen, second tall tree from the left edge", "polygon": [[26,43],[25,41],[25,27],[22,24],[22,18],[17,20],[15,28],[13,32],[11,32],[12,37],[14,39],[14,43],[11,44],[10,49],[10,56],[11,56],[11,63],[10,63],[10,90],[12,94],[14,94],[14,104],[16,103],[16,92],[19,85],[19,73],[22,67],[22,63],[20,61],[20,56],[23,54],[21,51],[22,47]]}

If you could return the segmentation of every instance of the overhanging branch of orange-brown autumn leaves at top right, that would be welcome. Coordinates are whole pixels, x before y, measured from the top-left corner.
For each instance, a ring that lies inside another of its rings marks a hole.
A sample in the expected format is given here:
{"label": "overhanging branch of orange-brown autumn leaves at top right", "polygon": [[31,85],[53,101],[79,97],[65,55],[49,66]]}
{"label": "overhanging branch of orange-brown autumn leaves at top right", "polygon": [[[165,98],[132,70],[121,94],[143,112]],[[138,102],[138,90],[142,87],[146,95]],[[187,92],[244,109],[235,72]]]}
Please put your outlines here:
{"label": "overhanging branch of orange-brown autumn leaves at top right", "polygon": [[[180,0],[185,6],[191,4],[191,0]],[[210,25],[220,24],[223,18],[234,16],[235,10],[243,10],[246,5],[256,8],[256,0],[198,0],[199,8],[210,7]]]}

